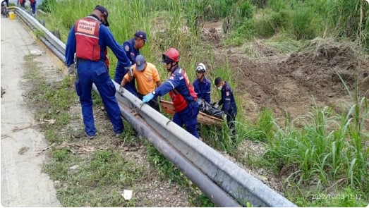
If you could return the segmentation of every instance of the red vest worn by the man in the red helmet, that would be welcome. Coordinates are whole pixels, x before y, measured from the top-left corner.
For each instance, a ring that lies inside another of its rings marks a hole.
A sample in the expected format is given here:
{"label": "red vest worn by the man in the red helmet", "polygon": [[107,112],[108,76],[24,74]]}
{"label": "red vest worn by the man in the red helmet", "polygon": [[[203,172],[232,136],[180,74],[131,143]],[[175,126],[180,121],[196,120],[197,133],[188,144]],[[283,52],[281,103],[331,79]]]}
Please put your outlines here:
{"label": "red vest worn by the man in the red helmet", "polygon": [[[183,70],[182,70],[182,76],[186,82],[186,87],[188,91],[190,92],[190,96],[193,97],[194,101],[196,101],[198,97],[196,96],[195,90],[193,90],[193,86],[190,84],[190,80],[188,80],[186,72]],[[174,90],[169,91],[169,96],[171,97],[171,100],[173,101],[174,110],[177,113],[183,111],[183,109],[186,109],[186,107],[188,106],[186,98],[183,97],[183,95],[180,94],[177,90],[174,89]]]}

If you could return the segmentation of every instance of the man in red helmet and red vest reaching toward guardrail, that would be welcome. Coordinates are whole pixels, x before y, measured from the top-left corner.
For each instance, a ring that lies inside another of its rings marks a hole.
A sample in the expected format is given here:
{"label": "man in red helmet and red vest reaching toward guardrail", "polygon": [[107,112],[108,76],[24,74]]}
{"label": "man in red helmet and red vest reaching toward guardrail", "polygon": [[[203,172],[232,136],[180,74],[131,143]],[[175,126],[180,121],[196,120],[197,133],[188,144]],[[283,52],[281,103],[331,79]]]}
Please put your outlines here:
{"label": "man in red helmet and red vest reaching toward guardrail", "polygon": [[162,54],[162,62],[167,64],[167,71],[171,77],[156,90],[143,97],[143,102],[149,102],[157,96],[163,96],[169,92],[173,101],[175,113],[173,121],[178,126],[185,124],[186,130],[199,137],[196,123],[198,123],[198,97],[193,90],[193,86],[188,80],[186,72],[179,67],[179,52],[174,49],[168,49]]}

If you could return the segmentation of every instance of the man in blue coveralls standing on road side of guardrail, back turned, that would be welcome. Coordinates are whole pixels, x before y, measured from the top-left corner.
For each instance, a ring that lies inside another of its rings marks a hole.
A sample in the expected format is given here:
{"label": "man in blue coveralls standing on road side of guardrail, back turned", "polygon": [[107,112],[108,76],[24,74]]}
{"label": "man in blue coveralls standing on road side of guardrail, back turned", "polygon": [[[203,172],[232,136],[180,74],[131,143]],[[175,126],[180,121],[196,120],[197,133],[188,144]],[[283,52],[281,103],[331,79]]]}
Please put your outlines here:
{"label": "man in blue coveralls standing on road side of guardrail, back turned", "polygon": [[116,43],[107,28],[109,27],[108,15],[109,13],[104,6],[97,5],[92,14],[75,22],[66,42],[66,66],[69,67],[74,63],[74,54],[77,57],[78,78],[75,80],[75,91],[80,97],[85,134],[90,139],[96,134],[92,112],[92,83],[95,83],[99,91],[116,137],[119,137],[124,130],[115,97],[115,86],[109,77],[105,63],[107,47],[125,66],[133,67],[126,53]]}

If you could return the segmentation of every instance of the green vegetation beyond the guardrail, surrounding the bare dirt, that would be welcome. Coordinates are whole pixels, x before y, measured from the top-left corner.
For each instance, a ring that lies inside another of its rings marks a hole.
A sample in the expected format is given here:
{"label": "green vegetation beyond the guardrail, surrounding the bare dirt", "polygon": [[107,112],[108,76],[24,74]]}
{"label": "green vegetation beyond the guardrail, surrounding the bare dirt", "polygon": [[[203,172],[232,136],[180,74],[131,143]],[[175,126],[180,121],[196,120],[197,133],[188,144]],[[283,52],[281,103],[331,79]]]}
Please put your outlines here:
{"label": "green vegetation beyond the guardrail, surrounding the bare dirt", "polygon": [[[41,8],[51,13],[47,26],[61,30],[65,42],[75,20],[89,14],[96,4],[92,0],[44,0]],[[222,76],[234,80],[227,61],[215,63],[212,47],[201,42],[205,20],[224,20],[224,46],[279,35],[284,42],[330,37],[354,42],[361,46],[362,53],[369,51],[369,4],[364,0],[102,0],[99,4],[108,8],[110,30],[118,42],[130,39],[136,30],[147,32],[150,43],[142,53],[158,66],[162,78],[166,73],[156,60],[168,47],[176,47],[181,52],[183,68],[193,69],[203,61],[211,68],[210,79]],[[115,66],[115,57],[109,57]],[[187,73],[194,80],[194,71]],[[303,127],[297,127],[294,124],[297,121],[289,119],[280,126],[271,110],[262,111],[257,121],[251,123],[243,118],[239,107],[237,144],[246,138],[265,142],[267,152],[253,162],[275,173],[280,173],[282,167],[293,170],[286,178],[292,188],[284,194],[299,206],[352,207],[364,206],[369,201],[369,135],[365,129],[368,99],[360,97],[357,88],[346,88],[352,103],[342,110],[344,113],[315,106],[304,118]],[[218,97],[214,92],[213,89],[212,96]],[[234,151],[226,126],[221,131],[202,131],[205,137],[212,137],[210,145],[214,148]],[[312,183],[313,190],[303,188]],[[311,200],[312,193],[346,197]],[[353,197],[359,195],[360,199]]]}

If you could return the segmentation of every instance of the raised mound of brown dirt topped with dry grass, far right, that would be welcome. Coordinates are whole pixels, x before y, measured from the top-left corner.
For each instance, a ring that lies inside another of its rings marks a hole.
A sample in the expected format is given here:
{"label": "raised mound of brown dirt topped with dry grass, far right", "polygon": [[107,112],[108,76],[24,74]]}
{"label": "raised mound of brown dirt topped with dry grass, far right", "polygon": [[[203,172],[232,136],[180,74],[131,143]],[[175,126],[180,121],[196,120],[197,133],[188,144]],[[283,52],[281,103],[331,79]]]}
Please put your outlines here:
{"label": "raised mound of brown dirt topped with dry grass, far right", "polygon": [[279,63],[279,72],[306,83],[308,87],[341,85],[339,75],[346,85],[352,86],[358,70],[357,57],[355,49],[348,44],[313,41],[303,51],[295,52]]}

